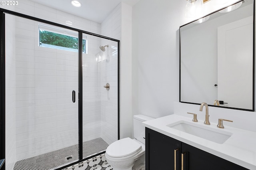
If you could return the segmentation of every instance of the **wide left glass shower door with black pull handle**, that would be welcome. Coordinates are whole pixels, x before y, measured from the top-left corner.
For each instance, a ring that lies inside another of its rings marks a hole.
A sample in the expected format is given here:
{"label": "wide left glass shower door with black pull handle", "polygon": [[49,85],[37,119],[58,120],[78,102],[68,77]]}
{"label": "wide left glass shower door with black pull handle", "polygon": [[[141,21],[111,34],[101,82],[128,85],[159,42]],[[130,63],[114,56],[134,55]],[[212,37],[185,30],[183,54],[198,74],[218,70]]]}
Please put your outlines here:
{"label": "wide left glass shower door with black pull handle", "polygon": [[6,17],[6,169],[76,161],[78,32]]}

